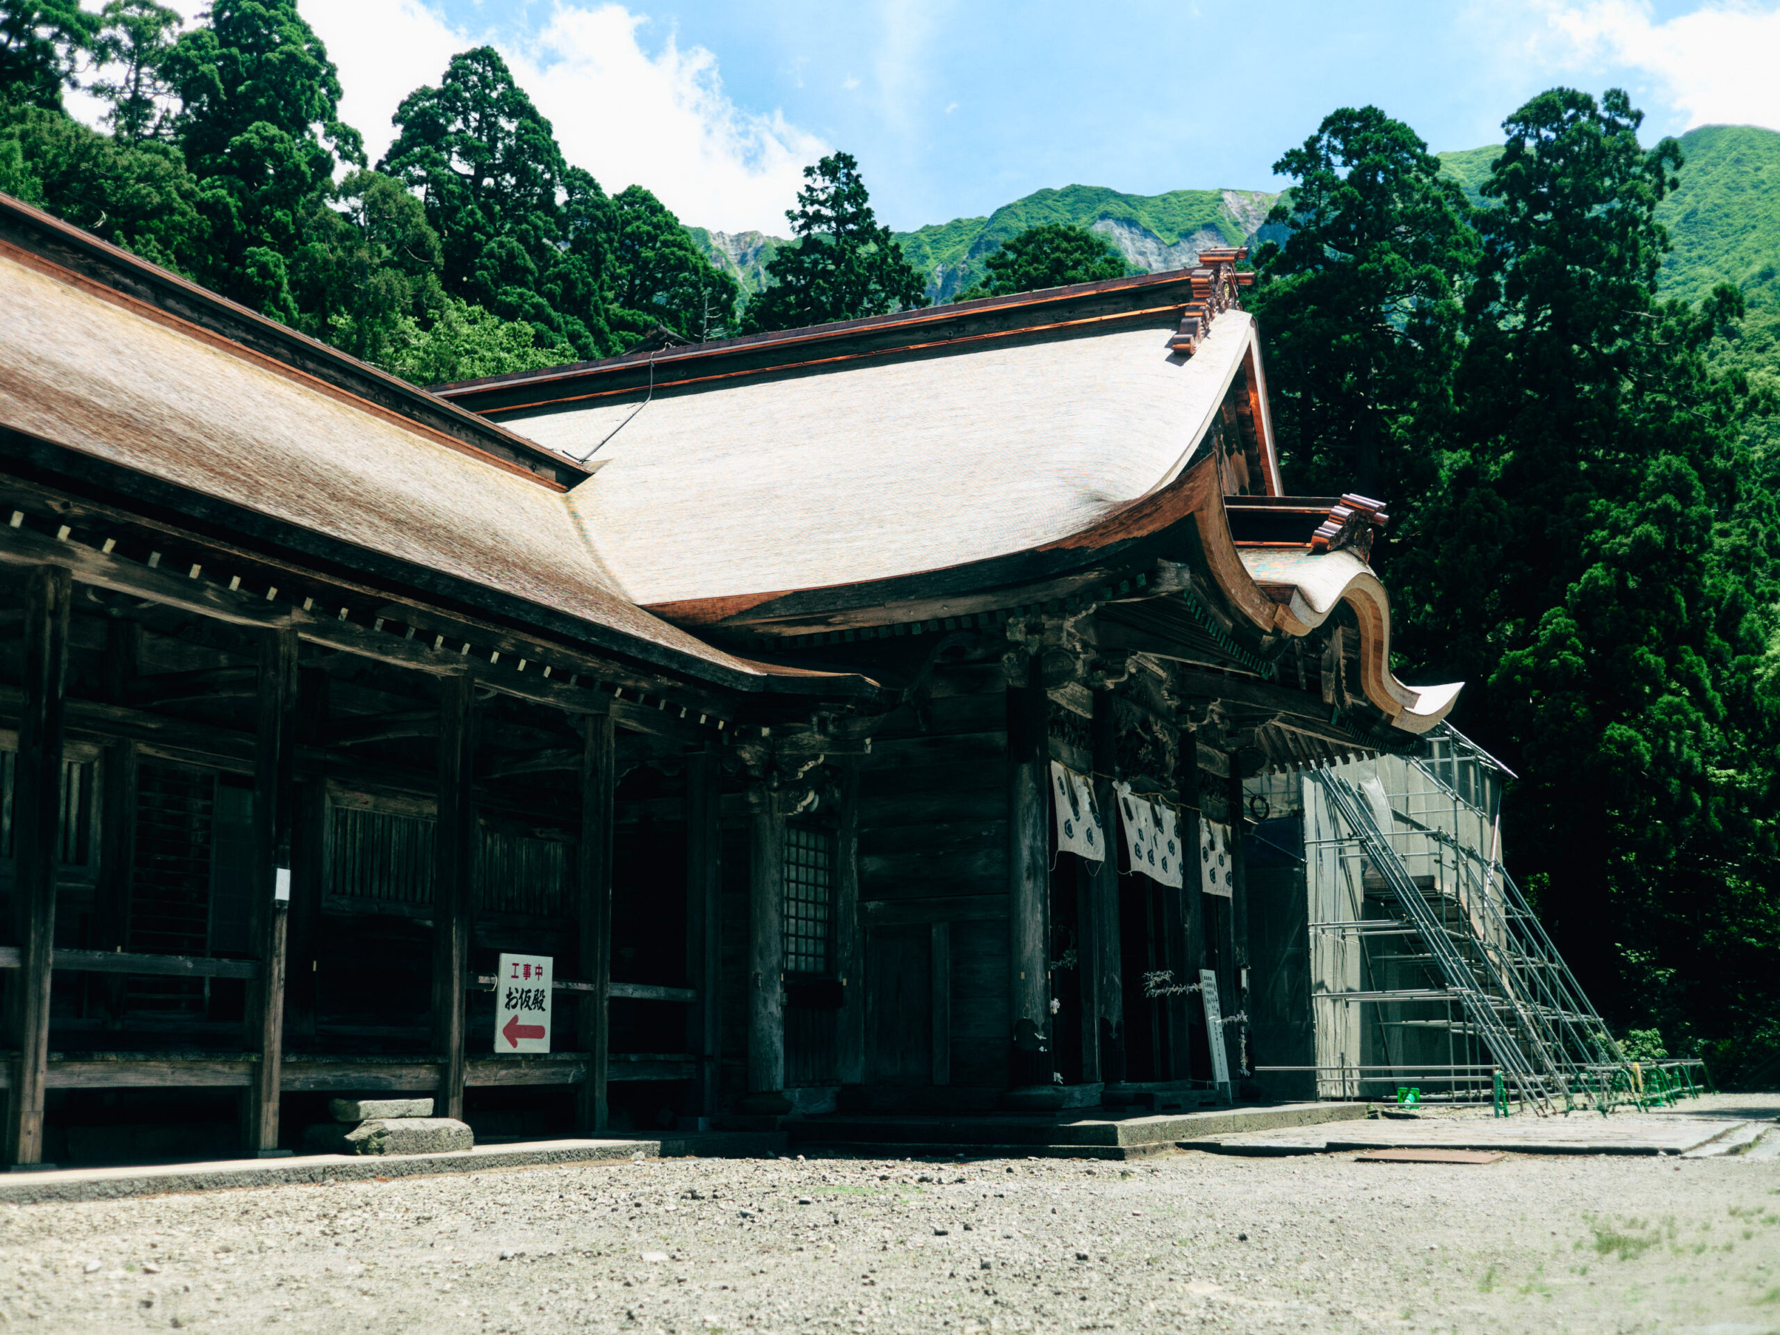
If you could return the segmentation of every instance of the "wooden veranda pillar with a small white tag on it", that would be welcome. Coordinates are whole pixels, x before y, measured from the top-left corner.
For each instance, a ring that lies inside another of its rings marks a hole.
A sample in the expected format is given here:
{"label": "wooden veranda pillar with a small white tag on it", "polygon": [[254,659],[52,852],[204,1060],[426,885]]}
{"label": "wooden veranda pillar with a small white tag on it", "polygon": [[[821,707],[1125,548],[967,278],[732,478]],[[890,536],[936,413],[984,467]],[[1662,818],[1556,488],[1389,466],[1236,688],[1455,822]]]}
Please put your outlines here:
{"label": "wooden veranda pillar with a small white tag on it", "polygon": [[297,632],[260,637],[253,748],[253,901],[247,940],[260,977],[247,984],[246,1045],[260,1054],[247,1089],[247,1152],[278,1150],[285,1057],[285,943],[290,922],[292,812],[297,764]]}

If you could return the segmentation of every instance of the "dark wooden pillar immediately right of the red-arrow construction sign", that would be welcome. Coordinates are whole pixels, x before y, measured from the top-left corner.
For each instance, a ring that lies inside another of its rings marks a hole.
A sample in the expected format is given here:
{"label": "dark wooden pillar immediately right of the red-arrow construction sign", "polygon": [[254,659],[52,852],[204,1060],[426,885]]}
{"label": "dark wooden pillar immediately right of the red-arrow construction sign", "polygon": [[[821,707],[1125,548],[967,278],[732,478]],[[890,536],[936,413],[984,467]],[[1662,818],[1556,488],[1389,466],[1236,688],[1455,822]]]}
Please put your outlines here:
{"label": "dark wooden pillar immediately right of the red-arrow construction sign", "polygon": [[[575,1002],[577,1038],[587,1054],[577,1118],[584,1136],[607,1127],[605,1084],[611,1064],[612,990],[612,805],[618,792],[618,737],[609,716],[580,721],[580,847],[575,863],[575,967],[584,991]],[[692,822],[687,821],[691,831]],[[694,984],[696,986],[696,984]],[[703,993],[700,1004],[703,1004]]]}

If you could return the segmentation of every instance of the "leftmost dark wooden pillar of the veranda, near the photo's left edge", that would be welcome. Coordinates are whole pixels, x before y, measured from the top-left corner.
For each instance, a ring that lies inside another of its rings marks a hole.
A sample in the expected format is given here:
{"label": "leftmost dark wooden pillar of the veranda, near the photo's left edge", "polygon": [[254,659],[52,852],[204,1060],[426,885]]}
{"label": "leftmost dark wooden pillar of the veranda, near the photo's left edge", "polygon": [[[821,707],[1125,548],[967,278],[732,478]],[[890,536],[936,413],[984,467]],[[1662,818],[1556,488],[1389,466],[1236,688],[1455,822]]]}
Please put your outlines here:
{"label": "leftmost dark wooden pillar of the veranda, near the photo's left edge", "polygon": [[43,1162],[71,593],[73,575],[62,566],[37,566],[25,575],[25,653],[20,673],[25,698],[20,705],[12,783],[12,920],[21,967],[7,990],[7,1029],[18,1048],[5,1116],[9,1164]]}

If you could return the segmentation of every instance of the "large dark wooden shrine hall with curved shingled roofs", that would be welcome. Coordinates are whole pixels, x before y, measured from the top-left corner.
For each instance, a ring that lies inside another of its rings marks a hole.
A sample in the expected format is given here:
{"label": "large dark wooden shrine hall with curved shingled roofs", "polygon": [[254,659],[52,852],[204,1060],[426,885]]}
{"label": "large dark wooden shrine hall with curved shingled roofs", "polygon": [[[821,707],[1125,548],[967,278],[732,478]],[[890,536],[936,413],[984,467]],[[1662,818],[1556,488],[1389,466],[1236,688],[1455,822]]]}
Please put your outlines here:
{"label": "large dark wooden shrine hall with curved shingled roofs", "polygon": [[1244,778],[1456,694],[1239,258],[425,392],[0,196],[7,1161],[1239,1098]]}

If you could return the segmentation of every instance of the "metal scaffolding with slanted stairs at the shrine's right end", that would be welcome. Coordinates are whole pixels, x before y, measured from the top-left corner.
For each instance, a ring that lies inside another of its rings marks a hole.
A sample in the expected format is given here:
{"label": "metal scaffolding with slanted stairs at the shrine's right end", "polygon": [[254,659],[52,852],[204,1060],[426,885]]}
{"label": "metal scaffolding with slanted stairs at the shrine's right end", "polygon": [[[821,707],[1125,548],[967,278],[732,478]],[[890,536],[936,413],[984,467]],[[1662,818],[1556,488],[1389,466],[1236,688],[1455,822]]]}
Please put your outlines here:
{"label": "metal scaffolding with slanted stairs at the shrine's right end", "polygon": [[[1394,1082],[1420,1080],[1433,1098],[1504,1109],[1511,1096],[1554,1112],[1641,1105],[1646,1084],[1650,1096],[1691,1089],[1696,1063],[1652,1072],[1625,1059],[1502,867],[1495,808],[1508,771],[1451,728],[1399,764],[1369,778],[1355,765],[1307,773],[1305,796],[1317,790],[1324,808],[1307,854],[1331,854],[1340,886],[1333,913],[1312,913],[1312,940],[1340,942],[1344,958],[1358,949],[1347,984],[1315,993],[1319,1007],[1355,1007],[1346,1032],[1360,1048],[1339,1064],[1317,1059],[1319,1091],[1378,1096],[1385,1086],[1388,1096]],[[1387,792],[1383,773],[1401,790]],[[1381,1059],[1365,1061],[1367,1047]]]}

